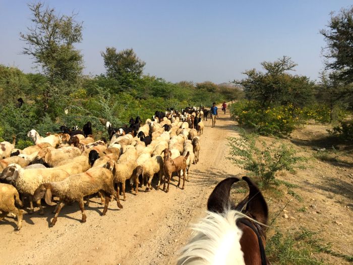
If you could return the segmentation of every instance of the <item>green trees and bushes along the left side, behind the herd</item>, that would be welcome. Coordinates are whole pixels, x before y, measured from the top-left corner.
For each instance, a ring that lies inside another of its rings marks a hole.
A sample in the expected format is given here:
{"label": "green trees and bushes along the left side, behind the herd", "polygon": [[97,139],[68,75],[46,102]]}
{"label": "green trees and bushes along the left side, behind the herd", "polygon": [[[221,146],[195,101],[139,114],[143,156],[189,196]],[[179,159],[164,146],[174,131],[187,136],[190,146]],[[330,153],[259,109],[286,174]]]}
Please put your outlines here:
{"label": "green trees and bushes along the left side, behind the herd", "polygon": [[29,8],[33,23],[20,38],[25,44],[22,52],[33,59],[37,73],[25,74],[16,67],[0,65],[0,140],[12,141],[16,135],[17,148],[32,144],[27,138],[31,129],[43,135],[57,132],[61,125],[82,128],[90,121],[95,133],[107,137],[106,120],[121,126],[131,117],[151,118],[156,110],[210,107],[213,101],[236,100],[243,95],[229,84],[171,83],[144,75],[146,62],[132,48],[107,47],[101,52],[106,72],[85,76],[83,56],[75,48],[84,37],[83,22],[75,15],[57,15],[42,3]]}

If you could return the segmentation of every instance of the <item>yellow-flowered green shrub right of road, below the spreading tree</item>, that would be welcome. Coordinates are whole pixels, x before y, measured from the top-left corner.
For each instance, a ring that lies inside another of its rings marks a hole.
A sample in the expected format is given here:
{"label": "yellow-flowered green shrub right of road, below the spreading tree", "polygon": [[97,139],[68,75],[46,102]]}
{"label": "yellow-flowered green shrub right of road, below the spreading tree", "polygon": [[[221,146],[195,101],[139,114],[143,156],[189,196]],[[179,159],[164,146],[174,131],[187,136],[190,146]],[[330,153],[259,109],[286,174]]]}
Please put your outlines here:
{"label": "yellow-flowered green shrub right of road, below the spreading tree", "polygon": [[256,101],[239,101],[231,105],[231,114],[240,125],[254,128],[261,135],[289,135],[298,124],[293,118],[292,105],[263,109]]}

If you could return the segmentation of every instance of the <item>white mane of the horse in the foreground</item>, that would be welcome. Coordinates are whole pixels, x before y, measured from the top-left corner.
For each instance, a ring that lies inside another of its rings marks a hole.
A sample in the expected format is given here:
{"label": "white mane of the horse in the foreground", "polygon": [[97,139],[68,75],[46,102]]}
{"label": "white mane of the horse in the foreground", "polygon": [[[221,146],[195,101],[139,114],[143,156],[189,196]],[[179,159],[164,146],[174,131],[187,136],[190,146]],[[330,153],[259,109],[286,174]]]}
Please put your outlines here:
{"label": "white mane of the horse in the foreground", "polygon": [[178,265],[245,265],[237,219],[245,215],[236,210],[224,214],[207,211],[205,218],[192,226],[192,238],[179,253]]}

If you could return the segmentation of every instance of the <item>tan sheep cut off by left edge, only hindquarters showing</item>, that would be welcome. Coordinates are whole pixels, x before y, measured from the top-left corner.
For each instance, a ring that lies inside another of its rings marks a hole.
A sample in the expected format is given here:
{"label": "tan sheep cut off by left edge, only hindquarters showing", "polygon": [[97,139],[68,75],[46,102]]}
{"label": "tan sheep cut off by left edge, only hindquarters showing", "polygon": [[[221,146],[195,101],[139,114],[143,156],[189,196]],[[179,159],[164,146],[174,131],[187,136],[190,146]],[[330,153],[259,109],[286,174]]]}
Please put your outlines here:
{"label": "tan sheep cut off by left edge, only hindquarters showing", "polygon": [[22,207],[23,204],[16,188],[10,184],[0,183],[0,221],[9,213],[17,216],[17,227],[15,231],[19,231],[22,227],[22,210],[16,207],[15,203]]}

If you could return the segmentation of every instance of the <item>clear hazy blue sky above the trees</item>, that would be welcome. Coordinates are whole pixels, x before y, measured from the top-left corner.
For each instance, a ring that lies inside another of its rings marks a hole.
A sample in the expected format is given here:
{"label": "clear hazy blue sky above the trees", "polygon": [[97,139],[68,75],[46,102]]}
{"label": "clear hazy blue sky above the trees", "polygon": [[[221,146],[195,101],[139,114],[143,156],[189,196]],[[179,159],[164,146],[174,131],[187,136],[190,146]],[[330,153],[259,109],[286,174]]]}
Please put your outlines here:
{"label": "clear hazy blue sky above the trees", "polygon": [[[31,24],[27,1],[0,0],[0,64],[34,72],[19,39]],[[83,21],[85,74],[104,73],[107,46],[134,48],[145,74],[167,81],[222,83],[244,78],[247,69],[283,55],[296,74],[316,80],[323,69],[319,30],[331,11],[351,0],[298,1],[45,1],[60,14]]]}

